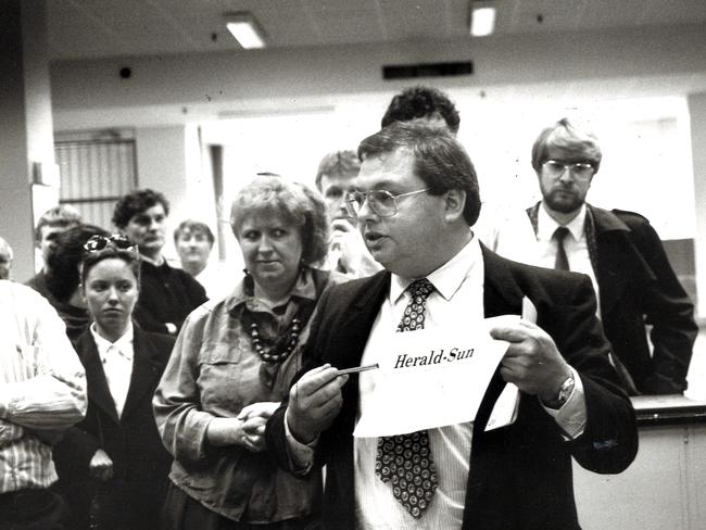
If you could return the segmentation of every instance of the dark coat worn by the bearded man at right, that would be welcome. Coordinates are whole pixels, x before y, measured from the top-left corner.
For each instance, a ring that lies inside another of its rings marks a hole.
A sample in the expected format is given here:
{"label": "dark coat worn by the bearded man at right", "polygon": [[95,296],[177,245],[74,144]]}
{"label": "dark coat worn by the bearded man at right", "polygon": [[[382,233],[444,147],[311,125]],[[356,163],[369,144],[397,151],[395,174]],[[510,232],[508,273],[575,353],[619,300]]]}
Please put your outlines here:
{"label": "dark coat worn by the bearded man at right", "polygon": [[[641,215],[588,207],[595,226],[603,328],[615,354],[639,392],[684,391],[698,327],[659,236]],[[645,324],[652,326],[652,355]]]}

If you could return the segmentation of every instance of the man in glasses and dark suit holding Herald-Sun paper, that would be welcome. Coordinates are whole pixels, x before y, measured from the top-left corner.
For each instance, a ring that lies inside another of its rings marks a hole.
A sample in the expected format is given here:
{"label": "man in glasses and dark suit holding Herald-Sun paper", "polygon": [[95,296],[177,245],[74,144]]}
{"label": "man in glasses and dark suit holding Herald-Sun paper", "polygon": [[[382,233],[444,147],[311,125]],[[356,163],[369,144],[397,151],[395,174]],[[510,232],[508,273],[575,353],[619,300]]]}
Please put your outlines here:
{"label": "man in glasses and dark suit holding Herald-Sun paper", "polygon": [[[348,201],[387,270],[324,295],[305,354],[304,369],[313,368],[270,418],[268,447],[293,472],[326,464],[327,529],[578,529],[571,456],[615,474],[638,445],[589,279],[509,262],[475,240],[468,228],[480,207],[476,173],[447,132],[394,124],[365,139],[358,153],[357,191]],[[375,371],[345,376],[337,368],[386,353],[379,339],[394,331],[405,304],[419,303],[407,287],[423,278],[432,286],[425,308],[415,310],[425,330],[442,336],[483,316],[519,315],[525,298],[537,308],[537,325],[518,319],[491,330],[509,346],[475,421],[394,437],[424,440],[418,453],[411,444],[415,475],[407,477],[400,460],[401,477],[424,484],[415,493],[402,479],[391,480],[394,488],[379,479],[388,464],[378,442],[387,445],[387,438],[352,436]],[[486,431],[506,382],[520,390],[517,419]],[[432,464],[418,478],[416,463],[427,459]]]}

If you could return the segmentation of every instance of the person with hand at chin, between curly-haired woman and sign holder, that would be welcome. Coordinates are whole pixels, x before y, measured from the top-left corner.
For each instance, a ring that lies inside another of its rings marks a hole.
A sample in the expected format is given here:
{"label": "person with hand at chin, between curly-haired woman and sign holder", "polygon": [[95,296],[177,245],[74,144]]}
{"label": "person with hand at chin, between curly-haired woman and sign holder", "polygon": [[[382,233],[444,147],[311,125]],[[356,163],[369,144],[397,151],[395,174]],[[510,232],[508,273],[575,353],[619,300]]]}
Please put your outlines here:
{"label": "person with hand at chin, between curly-haired woman and sign holder", "polygon": [[328,245],[326,268],[354,278],[362,278],[380,270],[365,248],[345,207],[345,193],[357,177],[361,162],[354,151],[328,153],[318,165],[316,188],[324,195],[331,218],[331,240]]}

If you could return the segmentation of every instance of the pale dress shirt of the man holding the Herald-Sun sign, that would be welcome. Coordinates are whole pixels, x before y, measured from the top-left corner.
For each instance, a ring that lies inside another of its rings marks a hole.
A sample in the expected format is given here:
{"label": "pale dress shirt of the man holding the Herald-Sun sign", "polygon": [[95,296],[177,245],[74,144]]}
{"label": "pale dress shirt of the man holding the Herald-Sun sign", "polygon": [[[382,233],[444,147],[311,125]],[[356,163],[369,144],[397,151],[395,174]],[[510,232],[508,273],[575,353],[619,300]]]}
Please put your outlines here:
{"label": "pale dress shirt of the man holding the Herald-Sun sign", "polygon": [[[436,290],[426,303],[425,329],[441,335],[450,328],[463,328],[468,321],[484,318],[484,264],[480,245],[471,240],[452,260],[427,276]],[[407,305],[405,291],[413,281],[392,275],[390,292],[373,325],[361,364],[375,363],[386,354],[389,333],[396,332],[398,324]],[[368,396],[375,386],[376,370],[360,375],[360,413],[368,406]],[[558,411],[546,409],[569,437],[583,432],[585,402],[583,387],[575,373],[576,387],[567,403]],[[299,469],[305,470],[313,460],[313,449],[298,443],[286,426],[290,456]],[[419,519],[414,519],[392,495],[392,488],[375,475],[377,438],[354,440],[355,459],[355,519],[356,528],[365,530],[447,529],[457,530],[463,522],[464,502],[470,465],[472,422],[429,429],[429,444],[437,468],[439,485],[429,507]],[[314,445],[314,444],[312,444]]]}

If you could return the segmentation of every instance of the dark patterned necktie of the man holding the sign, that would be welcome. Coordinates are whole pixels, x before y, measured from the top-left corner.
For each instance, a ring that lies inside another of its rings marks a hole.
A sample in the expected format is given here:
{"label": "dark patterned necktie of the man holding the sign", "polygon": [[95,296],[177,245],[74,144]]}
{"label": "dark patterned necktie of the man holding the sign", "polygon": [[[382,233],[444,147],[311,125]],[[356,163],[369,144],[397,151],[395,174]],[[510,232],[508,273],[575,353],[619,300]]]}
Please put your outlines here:
{"label": "dark patterned necktie of the man holding the sign", "polygon": [[[425,305],[433,289],[427,278],[415,280],[407,287],[409,302],[398,331],[424,328]],[[428,432],[421,430],[379,438],[375,475],[382,482],[392,483],[392,495],[412,517],[421,517],[438,485]]]}

